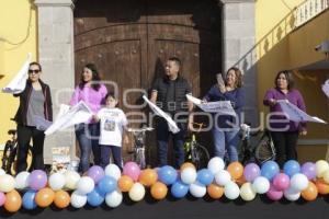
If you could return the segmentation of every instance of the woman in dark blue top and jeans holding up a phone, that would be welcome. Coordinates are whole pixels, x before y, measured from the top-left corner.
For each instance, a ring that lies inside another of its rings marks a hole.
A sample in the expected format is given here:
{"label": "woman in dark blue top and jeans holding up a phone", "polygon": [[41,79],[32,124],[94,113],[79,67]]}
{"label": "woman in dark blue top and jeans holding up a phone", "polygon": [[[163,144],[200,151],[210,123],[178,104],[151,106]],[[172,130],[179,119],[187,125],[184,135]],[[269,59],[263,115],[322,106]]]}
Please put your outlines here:
{"label": "woman in dark blue top and jeans holding up a phone", "polygon": [[[220,78],[222,79],[222,78]],[[237,116],[214,114],[213,137],[215,143],[215,157],[225,158],[228,162],[238,161],[239,129],[242,107],[245,105],[245,91],[242,74],[238,68],[228,69],[225,80],[215,84],[204,96],[204,101],[230,101]]]}

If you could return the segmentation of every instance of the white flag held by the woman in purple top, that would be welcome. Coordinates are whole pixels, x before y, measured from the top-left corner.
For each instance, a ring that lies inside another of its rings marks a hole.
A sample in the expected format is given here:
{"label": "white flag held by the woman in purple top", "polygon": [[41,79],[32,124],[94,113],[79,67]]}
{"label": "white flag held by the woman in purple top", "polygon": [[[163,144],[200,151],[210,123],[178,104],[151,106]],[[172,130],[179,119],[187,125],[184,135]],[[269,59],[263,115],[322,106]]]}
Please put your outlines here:
{"label": "white flag held by the woman in purple top", "polygon": [[322,123],[327,124],[327,122],[306,114],[304,111],[299,110],[296,105],[288,102],[288,100],[279,100],[277,104],[280,104],[283,113],[285,113],[290,120],[293,122],[314,122],[314,123]]}

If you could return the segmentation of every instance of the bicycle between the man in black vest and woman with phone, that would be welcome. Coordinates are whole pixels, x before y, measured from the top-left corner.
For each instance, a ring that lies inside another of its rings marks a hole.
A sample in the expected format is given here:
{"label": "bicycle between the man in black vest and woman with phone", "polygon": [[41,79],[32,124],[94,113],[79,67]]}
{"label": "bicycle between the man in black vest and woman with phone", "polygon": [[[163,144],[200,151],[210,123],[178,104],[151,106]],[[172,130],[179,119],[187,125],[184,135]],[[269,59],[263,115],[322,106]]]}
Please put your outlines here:
{"label": "bicycle between the man in black vest and woman with phone", "polygon": [[192,132],[190,139],[184,143],[185,161],[192,162],[197,170],[207,168],[209,161],[208,150],[196,141],[195,132],[200,132],[204,124],[193,123],[197,125],[196,131]]}

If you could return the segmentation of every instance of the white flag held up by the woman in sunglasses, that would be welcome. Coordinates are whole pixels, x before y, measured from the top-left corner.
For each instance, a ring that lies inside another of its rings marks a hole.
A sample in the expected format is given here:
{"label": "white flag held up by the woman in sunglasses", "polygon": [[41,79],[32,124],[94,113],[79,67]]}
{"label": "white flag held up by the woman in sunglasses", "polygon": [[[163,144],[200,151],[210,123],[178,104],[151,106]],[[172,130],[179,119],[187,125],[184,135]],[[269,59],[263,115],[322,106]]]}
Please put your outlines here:
{"label": "white flag held up by the woman in sunglasses", "polygon": [[3,93],[22,93],[26,87],[26,80],[29,78],[27,71],[31,64],[32,54],[27,54],[27,59],[21,67],[20,71],[16,73],[16,76],[9,82],[9,84],[2,89]]}

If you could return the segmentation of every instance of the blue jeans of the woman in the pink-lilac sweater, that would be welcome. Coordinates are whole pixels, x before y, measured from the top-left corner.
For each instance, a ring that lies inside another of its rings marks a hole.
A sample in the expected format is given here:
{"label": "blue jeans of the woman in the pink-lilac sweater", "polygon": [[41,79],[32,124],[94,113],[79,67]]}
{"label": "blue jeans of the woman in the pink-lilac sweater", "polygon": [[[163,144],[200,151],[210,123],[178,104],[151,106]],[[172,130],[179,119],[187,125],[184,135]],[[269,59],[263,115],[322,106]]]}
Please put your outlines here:
{"label": "blue jeans of the woman in the pink-lilac sweater", "polygon": [[99,146],[100,124],[79,124],[76,126],[76,137],[80,148],[79,171],[86,172],[89,169],[91,150],[93,164],[101,163],[101,149]]}

